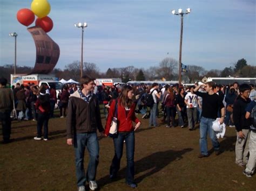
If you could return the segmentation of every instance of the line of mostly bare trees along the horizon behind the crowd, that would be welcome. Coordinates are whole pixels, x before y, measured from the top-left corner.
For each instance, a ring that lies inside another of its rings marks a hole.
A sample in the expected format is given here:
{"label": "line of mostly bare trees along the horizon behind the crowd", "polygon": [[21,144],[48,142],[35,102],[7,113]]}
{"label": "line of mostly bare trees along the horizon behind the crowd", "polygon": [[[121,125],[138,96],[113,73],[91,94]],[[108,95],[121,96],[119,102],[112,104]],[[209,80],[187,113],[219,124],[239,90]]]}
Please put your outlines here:
{"label": "line of mostly bare trees along the horizon behind the crowd", "polygon": [[[256,66],[249,65],[242,58],[233,63],[231,67],[225,67],[223,70],[211,69],[206,70],[201,66],[187,65],[187,72],[182,73],[182,79],[185,83],[193,83],[206,77],[256,77]],[[17,74],[28,74],[32,71],[32,67],[17,66]],[[10,81],[10,74],[14,72],[14,65],[0,66],[0,76],[5,77]],[[80,78],[80,62],[74,61],[64,67],[64,69],[55,68],[51,74],[64,78],[65,80],[73,79],[79,81]],[[134,66],[109,68],[106,72],[100,72],[96,63],[83,63],[83,74],[88,74],[95,78],[120,78],[123,82],[137,80],[178,80],[178,61],[167,57],[159,62],[158,66],[153,66],[148,69],[136,68]]]}

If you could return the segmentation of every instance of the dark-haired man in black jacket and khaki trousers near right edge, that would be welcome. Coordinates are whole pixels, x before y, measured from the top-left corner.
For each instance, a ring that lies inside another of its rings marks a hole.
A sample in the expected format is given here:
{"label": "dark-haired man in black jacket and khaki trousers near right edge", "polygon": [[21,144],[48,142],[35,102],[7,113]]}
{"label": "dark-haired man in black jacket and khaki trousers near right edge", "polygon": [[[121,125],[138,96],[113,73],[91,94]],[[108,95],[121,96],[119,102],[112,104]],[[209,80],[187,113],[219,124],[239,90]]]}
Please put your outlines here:
{"label": "dark-haired man in black jacket and khaki trousers near right edge", "polygon": [[248,146],[246,145],[251,122],[245,118],[247,104],[251,102],[251,87],[248,84],[241,84],[239,87],[240,95],[234,102],[233,121],[237,130],[237,143],[235,144],[235,163],[245,166],[247,163]]}

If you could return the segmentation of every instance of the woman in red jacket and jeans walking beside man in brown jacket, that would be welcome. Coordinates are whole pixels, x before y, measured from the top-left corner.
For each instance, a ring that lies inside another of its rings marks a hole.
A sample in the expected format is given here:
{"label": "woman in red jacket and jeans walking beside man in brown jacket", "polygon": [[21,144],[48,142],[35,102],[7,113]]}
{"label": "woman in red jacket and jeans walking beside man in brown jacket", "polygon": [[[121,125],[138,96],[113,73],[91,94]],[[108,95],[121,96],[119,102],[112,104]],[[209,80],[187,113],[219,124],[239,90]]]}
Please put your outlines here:
{"label": "woman in red jacket and jeans walking beside man in brown jacket", "polygon": [[[124,141],[126,144],[126,183],[132,188],[136,188],[137,184],[134,182],[134,131],[140,126],[139,119],[135,116],[136,104],[132,100],[133,89],[131,86],[124,86],[117,100],[113,100],[110,105],[109,116],[107,116],[105,134],[109,135],[109,130],[116,110],[117,103],[117,124],[118,133],[113,137],[114,142],[114,158],[110,166],[110,178],[114,179],[120,168],[120,160],[123,155]],[[136,125],[133,127],[132,122]]]}

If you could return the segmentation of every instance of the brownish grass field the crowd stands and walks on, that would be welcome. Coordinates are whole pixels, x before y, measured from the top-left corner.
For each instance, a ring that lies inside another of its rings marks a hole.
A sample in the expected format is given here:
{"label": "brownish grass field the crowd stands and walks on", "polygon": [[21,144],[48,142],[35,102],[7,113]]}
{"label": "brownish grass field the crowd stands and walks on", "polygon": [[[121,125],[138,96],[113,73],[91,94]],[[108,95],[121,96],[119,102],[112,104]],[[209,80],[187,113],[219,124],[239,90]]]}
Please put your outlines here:
{"label": "brownish grass field the crowd stands and walks on", "polygon": [[[103,116],[103,115],[102,115]],[[138,118],[141,118],[138,115]],[[158,119],[160,122],[160,118]],[[102,118],[105,124],[105,118]],[[12,122],[14,142],[0,144],[0,190],[77,190],[75,156],[66,145],[65,118],[49,121],[48,142],[33,140],[36,122]],[[235,129],[227,127],[220,139],[221,154],[216,156],[208,140],[208,158],[199,159],[199,127],[149,128],[142,119],[136,132],[135,180],[137,190],[255,190],[256,175],[247,178],[234,163]],[[1,134],[2,138],[2,134]],[[125,185],[125,152],[118,179],[111,182],[109,167],[113,157],[111,138],[99,141],[97,171],[99,190],[132,190]],[[125,151],[125,150],[124,150]],[[85,167],[88,154],[85,154]],[[86,185],[89,189],[89,186]]]}

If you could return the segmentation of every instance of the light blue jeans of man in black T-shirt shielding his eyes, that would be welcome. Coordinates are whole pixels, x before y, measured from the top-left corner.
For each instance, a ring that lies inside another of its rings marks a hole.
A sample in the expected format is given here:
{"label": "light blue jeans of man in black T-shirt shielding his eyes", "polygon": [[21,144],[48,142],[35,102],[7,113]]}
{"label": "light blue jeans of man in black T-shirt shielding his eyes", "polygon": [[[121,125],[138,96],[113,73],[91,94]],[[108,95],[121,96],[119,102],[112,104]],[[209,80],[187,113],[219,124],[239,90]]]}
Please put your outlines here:
{"label": "light blue jeans of man in black T-shirt shielding his eyes", "polygon": [[220,149],[220,144],[216,138],[216,133],[212,129],[212,123],[215,121],[215,119],[211,118],[205,118],[201,117],[200,121],[200,152],[201,154],[207,155],[208,154],[208,148],[207,148],[207,134],[209,134],[212,145],[214,147],[215,151],[218,151]]}

